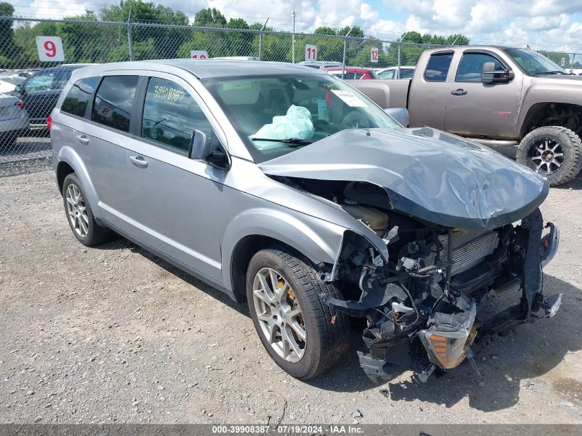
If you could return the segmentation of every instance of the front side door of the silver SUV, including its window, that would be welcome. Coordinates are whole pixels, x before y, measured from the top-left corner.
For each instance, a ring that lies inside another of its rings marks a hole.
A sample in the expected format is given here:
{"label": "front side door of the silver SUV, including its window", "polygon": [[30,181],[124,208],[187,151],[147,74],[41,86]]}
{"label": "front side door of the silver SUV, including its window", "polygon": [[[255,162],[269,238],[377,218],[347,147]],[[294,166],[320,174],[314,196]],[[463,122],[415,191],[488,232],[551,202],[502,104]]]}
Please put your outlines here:
{"label": "front side door of the silver SUV, including its window", "polygon": [[227,220],[218,204],[227,172],[189,158],[194,129],[207,138],[214,134],[209,110],[189,83],[172,74],[145,79],[141,94],[141,122],[127,156],[139,238],[222,281],[220,238]]}

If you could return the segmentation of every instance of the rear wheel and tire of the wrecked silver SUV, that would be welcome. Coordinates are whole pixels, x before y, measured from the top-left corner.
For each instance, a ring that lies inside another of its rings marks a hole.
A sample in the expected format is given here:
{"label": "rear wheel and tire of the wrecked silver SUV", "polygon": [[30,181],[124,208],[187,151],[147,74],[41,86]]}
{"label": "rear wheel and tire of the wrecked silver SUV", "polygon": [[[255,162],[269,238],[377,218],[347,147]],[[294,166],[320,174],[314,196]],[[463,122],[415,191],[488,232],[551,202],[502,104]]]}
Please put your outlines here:
{"label": "rear wheel and tire of the wrecked silver SUV", "polygon": [[[74,207],[75,205],[73,203],[75,202],[74,197],[76,193],[80,196],[77,197],[76,207]],[[93,245],[111,239],[114,233],[110,229],[101,227],[96,223],[91,207],[87,200],[85,200],[86,198],[83,185],[81,185],[76,174],[72,173],[66,176],[63,182],[63,204],[65,206],[65,214],[67,214],[67,222],[69,222],[75,238],[81,244],[92,247]],[[70,200],[72,200],[72,203]],[[76,219],[73,215],[75,215]],[[84,218],[83,215],[85,216]]]}

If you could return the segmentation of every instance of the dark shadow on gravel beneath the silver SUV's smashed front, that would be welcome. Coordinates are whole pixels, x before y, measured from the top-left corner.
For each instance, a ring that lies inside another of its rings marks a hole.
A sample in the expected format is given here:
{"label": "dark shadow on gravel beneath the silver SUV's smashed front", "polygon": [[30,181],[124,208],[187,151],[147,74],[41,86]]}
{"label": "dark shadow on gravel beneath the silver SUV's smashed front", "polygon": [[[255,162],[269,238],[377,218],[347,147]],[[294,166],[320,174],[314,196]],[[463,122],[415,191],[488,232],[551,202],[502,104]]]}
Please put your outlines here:
{"label": "dark shadow on gravel beneath the silver SUV's smashed front", "polygon": [[[535,389],[534,384],[530,385],[531,379],[550,372],[566,354],[582,349],[582,337],[572,331],[572,326],[577,325],[582,316],[582,290],[552,276],[544,277],[544,287],[551,289],[546,291],[548,295],[564,294],[561,310],[552,319],[523,324],[506,336],[492,338],[475,357],[482,378],[465,363],[442,377],[430,377],[426,383],[417,382],[408,377],[411,373],[406,373],[403,377],[397,377],[397,380],[373,384],[364,375],[355,355],[356,349],[362,347],[352,346],[342,364],[308,383],[328,391],[375,390],[378,401],[386,402],[386,406],[390,402],[420,400],[451,407],[468,397],[470,407],[479,411],[498,411],[511,407],[518,402],[520,390]],[[495,311],[504,307],[507,306],[496,307]],[[362,342],[355,340],[353,344]],[[573,380],[570,379],[553,376],[545,379],[551,379],[557,390],[582,391],[582,384],[572,386]],[[581,397],[582,392],[577,392],[577,395]]]}

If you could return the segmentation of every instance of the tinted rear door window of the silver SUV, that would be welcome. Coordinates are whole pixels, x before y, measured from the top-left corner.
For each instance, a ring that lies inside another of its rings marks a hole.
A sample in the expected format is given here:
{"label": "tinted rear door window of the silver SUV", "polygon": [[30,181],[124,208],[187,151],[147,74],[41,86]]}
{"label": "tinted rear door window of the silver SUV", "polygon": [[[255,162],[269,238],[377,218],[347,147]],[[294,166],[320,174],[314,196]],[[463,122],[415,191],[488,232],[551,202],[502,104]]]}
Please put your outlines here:
{"label": "tinted rear door window of the silver SUV", "polygon": [[92,121],[129,132],[138,76],[105,76],[95,95]]}

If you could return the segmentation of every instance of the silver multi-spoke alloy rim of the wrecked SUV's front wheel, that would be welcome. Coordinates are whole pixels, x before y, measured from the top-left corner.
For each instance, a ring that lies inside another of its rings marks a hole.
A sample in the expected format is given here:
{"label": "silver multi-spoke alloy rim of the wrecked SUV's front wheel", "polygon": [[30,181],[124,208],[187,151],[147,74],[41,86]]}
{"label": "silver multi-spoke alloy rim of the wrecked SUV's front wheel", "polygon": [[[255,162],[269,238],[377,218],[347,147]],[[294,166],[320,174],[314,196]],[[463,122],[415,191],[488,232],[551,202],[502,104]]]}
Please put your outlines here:
{"label": "silver multi-spoke alloy rim of the wrecked SUV's front wheel", "polygon": [[299,301],[287,279],[274,269],[260,269],[253,281],[253,304],[260,331],[273,351],[287,362],[299,362],[305,353],[307,332]]}

